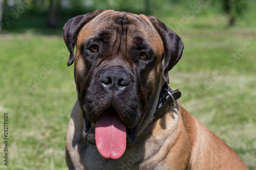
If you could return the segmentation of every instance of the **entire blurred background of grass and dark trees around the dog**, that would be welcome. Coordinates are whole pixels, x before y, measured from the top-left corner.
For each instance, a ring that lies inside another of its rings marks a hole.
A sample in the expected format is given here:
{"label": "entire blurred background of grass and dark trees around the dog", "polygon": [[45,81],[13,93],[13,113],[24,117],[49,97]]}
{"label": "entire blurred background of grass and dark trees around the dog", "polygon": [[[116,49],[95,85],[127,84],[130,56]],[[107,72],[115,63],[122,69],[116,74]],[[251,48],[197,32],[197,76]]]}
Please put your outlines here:
{"label": "entire blurred background of grass and dark trees around the dog", "polygon": [[156,16],[182,38],[183,56],[169,71],[181,105],[256,169],[255,6],[254,0],[0,0],[0,124],[8,113],[9,137],[8,166],[1,142],[0,169],[67,169],[76,88],[62,27],[100,8]]}

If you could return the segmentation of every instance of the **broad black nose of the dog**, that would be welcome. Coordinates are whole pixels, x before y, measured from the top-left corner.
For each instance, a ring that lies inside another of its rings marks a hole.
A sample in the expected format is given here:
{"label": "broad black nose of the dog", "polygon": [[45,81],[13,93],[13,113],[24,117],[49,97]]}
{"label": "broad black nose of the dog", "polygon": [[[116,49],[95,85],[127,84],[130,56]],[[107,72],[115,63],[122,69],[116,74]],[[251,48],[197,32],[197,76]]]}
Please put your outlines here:
{"label": "broad black nose of the dog", "polygon": [[120,91],[130,84],[130,79],[123,68],[108,68],[100,75],[100,82],[105,89]]}

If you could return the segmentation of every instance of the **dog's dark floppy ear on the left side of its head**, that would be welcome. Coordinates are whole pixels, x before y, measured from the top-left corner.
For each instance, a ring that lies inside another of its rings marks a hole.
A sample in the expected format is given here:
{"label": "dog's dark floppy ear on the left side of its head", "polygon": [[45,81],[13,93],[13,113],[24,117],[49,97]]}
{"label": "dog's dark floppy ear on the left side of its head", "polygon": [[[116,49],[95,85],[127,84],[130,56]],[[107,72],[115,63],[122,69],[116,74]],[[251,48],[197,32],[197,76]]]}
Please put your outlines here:
{"label": "dog's dark floppy ear on the left side of its head", "polygon": [[68,20],[63,27],[63,38],[70,52],[68,66],[74,62],[74,48],[76,44],[76,39],[81,28],[86,25],[91,19],[100,14],[105,10],[96,10],[88,14],[79,15]]}

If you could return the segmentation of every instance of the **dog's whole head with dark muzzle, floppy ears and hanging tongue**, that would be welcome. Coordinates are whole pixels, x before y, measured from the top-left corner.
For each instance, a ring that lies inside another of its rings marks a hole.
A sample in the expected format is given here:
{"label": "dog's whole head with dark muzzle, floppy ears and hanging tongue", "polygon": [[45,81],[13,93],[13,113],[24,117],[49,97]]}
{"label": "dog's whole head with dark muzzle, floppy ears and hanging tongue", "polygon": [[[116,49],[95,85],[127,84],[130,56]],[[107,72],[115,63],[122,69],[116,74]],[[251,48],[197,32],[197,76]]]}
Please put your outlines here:
{"label": "dog's whole head with dark muzzle, floppy ears and hanging tongue", "polygon": [[103,157],[117,159],[150,123],[183,43],[154,17],[112,10],[70,19],[63,37],[68,65],[75,61],[82,135]]}

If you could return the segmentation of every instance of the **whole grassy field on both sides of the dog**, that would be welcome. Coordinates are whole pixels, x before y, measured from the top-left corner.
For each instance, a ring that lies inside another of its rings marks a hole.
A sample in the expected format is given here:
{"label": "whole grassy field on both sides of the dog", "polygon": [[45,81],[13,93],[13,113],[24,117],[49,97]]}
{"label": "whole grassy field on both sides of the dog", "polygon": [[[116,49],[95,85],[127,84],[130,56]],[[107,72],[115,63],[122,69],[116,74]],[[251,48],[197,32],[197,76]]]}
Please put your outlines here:
{"label": "whole grassy field on both sides of the dog", "polygon": [[[182,92],[180,103],[256,169],[255,27],[241,22],[228,28],[223,15],[186,24],[182,17],[160,19],[185,45],[169,72],[170,85]],[[8,113],[9,163],[3,163],[1,142],[0,169],[67,169],[65,137],[76,89],[66,45],[60,34],[4,32],[0,111],[1,125]]]}

